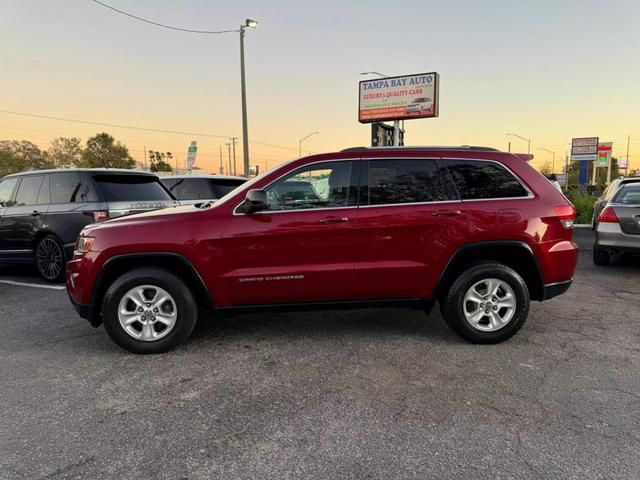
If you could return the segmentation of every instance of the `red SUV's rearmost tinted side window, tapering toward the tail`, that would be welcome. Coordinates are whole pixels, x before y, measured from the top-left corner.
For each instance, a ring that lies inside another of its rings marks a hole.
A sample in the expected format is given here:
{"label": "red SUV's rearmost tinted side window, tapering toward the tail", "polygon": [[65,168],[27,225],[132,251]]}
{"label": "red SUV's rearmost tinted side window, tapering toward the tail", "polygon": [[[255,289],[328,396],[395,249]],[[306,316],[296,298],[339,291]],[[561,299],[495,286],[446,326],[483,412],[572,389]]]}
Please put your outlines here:
{"label": "red SUV's rearmost tinted side window, tapering toward the tail", "polygon": [[493,162],[445,160],[463,200],[527,197],[529,193],[507,169]]}

